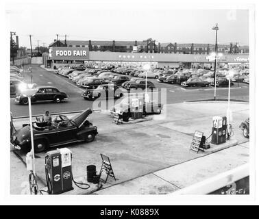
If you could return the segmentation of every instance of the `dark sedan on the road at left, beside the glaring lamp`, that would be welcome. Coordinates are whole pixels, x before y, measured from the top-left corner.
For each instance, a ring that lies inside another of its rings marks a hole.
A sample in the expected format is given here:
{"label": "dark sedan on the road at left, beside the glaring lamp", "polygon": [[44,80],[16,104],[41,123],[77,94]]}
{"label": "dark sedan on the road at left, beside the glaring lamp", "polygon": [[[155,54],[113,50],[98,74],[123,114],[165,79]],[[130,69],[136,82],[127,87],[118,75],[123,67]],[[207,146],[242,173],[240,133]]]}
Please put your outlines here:
{"label": "dark sedan on the road at left, beside the glaring lamp", "polygon": [[[14,101],[16,103],[20,103],[22,105],[28,104],[28,97],[27,93],[30,92],[30,90],[24,90],[20,94],[16,95],[16,98]],[[40,86],[35,89],[35,93],[32,95],[31,100],[32,102],[37,101],[55,101],[56,103],[60,103],[64,99],[68,99],[69,96],[66,95],[66,93],[58,90],[58,88],[50,87],[50,86]]]}

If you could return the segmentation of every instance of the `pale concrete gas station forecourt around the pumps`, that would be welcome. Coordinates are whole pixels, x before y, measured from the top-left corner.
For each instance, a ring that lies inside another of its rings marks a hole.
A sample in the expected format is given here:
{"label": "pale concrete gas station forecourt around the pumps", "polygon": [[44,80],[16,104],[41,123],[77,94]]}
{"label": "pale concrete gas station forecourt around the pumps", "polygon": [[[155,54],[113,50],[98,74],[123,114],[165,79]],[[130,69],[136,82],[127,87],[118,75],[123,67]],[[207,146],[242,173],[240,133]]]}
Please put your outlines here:
{"label": "pale concrete gas station forecourt around the pumps", "polygon": [[[209,153],[189,151],[193,133],[199,130],[209,136],[212,116],[224,116],[226,108],[227,103],[175,103],[167,105],[162,115],[153,116],[153,120],[131,125],[114,125],[107,114],[93,113],[89,120],[99,128],[95,142],[67,146],[73,152],[73,175],[75,178],[85,176],[86,166],[90,164],[99,170],[100,153],[110,157],[117,178],[108,181],[103,188],[204,157]],[[232,103],[231,108],[234,111],[233,139],[242,144],[247,139],[238,126],[248,117],[249,104]],[[25,153],[18,151],[17,154],[24,162]],[[45,181],[44,162],[45,153],[38,154],[36,170],[42,181]],[[11,172],[15,175],[19,168],[24,171],[25,166],[20,165]]]}

